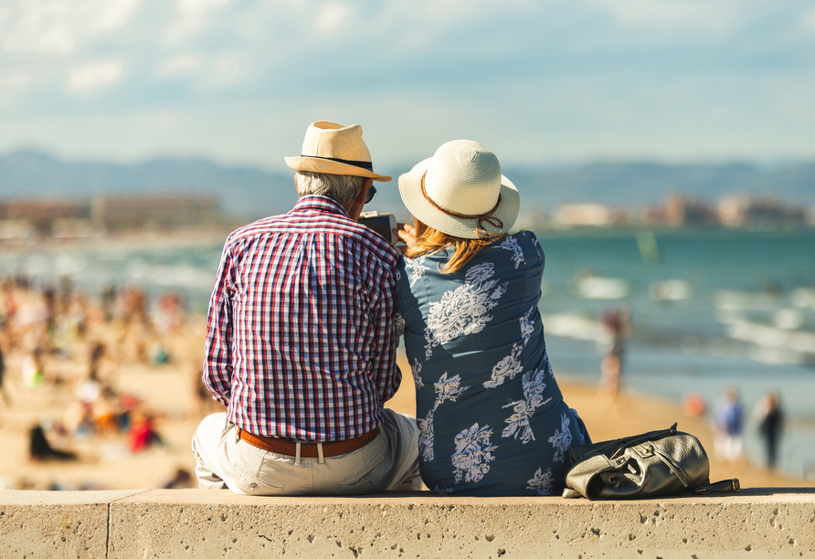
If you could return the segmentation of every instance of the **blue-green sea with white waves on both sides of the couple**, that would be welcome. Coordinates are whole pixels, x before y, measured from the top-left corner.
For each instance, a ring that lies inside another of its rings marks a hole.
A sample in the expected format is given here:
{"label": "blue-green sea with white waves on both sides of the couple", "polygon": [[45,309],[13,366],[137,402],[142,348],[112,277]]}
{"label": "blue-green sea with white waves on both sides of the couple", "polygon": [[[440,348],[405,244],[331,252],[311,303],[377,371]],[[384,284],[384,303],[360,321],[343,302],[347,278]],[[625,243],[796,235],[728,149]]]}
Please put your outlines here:
{"label": "blue-green sea with white waves on both sides of the couple", "polygon": [[[815,229],[536,235],[546,258],[540,311],[556,374],[597,382],[609,347],[600,317],[630,312],[624,390],[677,403],[695,393],[712,409],[736,388],[746,454],[759,465],[756,410],[777,392],[787,417],[778,467],[815,479]],[[203,314],[222,246],[223,238],[209,237],[4,248],[0,277],[21,273],[44,284],[68,276],[91,297],[109,285],[140,286],[153,302],[174,292]]]}

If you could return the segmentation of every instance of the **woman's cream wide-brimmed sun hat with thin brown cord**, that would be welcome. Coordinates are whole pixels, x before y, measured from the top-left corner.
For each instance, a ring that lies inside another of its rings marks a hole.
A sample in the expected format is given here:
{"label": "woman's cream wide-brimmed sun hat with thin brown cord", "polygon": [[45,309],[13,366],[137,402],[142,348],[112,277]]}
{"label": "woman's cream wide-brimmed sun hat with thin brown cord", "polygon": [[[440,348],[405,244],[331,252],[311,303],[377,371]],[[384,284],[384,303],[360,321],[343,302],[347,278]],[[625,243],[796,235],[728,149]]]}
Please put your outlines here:
{"label": "woman's cream wide-brimmed sun hat with thin brown cord", "polygon": [[455,237],[482,238],[513,227],[521,197],[479,142],[454,140],[399,177],[402,202],[422,223]]}

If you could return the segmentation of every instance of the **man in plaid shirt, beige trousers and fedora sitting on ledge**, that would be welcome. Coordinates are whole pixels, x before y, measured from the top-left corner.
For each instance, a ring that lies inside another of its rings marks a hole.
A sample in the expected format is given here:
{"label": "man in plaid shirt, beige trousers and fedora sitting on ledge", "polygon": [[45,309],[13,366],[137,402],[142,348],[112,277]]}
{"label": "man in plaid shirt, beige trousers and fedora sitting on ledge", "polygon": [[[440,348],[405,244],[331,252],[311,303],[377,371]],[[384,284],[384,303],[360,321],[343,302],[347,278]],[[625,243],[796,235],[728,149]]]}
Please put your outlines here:
{"label": "man in plaid shirt, beige trousers and fedora sitting on ledge", "polygon": [[314,122],[287,157],[300,200],[227,239],[204,383],[226,413],[193,437],[198,484],[252,495],[419,489],[418,427],[397,391],[397,250],[357,223],[391,177],[362,128]]}

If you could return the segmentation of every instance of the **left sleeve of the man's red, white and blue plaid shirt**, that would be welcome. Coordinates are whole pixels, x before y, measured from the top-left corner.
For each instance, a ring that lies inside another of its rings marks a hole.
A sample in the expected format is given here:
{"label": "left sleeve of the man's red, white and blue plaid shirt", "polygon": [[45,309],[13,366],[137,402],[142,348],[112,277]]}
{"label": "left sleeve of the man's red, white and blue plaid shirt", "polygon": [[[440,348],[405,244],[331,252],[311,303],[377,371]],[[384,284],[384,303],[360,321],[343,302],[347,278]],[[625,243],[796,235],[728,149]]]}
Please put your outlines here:
{"label": "left sleeve of the man's red, white and blue plaid shirt", "polygon": [[209,301],[204,344],[204,384],[212,397],[229,404],[232,386],[232,293],[234,270],[229,239],[221,255],[215,288]]}

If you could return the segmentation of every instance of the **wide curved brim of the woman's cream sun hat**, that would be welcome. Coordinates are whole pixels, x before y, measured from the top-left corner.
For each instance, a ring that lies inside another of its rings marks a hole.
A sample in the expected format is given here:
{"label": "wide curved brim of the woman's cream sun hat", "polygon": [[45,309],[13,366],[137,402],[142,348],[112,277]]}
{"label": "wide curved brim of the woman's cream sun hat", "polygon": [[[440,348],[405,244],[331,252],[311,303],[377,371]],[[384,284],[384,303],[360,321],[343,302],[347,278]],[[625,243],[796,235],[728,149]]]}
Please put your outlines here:
{"label": "wide curved brim of the woman's cream sun hat", "polygon": [[[432,157],[417,163],[408,173],[399,176],[399,194],[408,211],[419,221],[437,231],[454,237],[479,238],[478,219],[450,216],[432,206],[421,192],[421,178],[428,170]],[[521,196],[512,181],[501,175],[501,204],[492,217],[497,217],[503,227],[494,227],[483,221],[482,227],[490,233],[506,233],[513,227],[521,209]]]}

